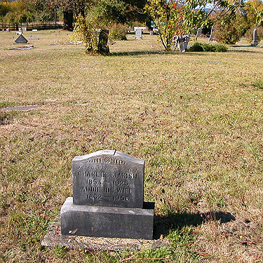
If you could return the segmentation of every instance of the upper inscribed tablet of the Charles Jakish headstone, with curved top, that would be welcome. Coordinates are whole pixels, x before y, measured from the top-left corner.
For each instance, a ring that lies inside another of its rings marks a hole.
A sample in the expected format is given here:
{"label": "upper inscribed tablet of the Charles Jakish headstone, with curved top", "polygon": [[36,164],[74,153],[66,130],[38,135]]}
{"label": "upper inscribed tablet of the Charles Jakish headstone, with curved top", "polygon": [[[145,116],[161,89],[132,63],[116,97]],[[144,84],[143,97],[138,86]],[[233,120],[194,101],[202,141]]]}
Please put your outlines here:
{"label": "upper inscribed tablet of the Charles Jakish headstone, with curved top", "polygon": [[144,160],[120,151],[96,151],[72,161],[73,203],[142,208]]}

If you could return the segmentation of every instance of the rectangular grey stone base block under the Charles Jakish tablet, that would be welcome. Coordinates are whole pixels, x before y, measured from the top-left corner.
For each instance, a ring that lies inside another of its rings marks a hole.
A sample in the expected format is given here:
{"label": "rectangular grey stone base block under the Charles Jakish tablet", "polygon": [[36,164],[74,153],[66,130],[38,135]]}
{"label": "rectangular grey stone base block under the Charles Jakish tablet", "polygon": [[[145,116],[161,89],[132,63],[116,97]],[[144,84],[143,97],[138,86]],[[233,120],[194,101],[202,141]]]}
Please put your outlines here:
{"label": "rectangular grey stone base block under the Charles Jakish tablet", "polygon": [[144,208],[74,205],[68,197],[60,210],[62,235],[152,239],[154,203]]}

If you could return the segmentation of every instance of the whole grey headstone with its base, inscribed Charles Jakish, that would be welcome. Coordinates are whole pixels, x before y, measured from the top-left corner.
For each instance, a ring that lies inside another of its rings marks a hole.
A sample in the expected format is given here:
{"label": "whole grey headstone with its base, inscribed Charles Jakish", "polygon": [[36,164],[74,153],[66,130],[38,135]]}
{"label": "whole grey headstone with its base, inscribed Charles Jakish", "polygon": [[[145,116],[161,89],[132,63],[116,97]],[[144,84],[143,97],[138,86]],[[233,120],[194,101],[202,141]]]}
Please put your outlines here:
{"label": "whole grey headstone with its base, inscribed Charles Jakish", "polygon": [[154,203],[143,202],[144,161],[96,151],[72,161],[73,198],[60,210],[62,235],[153,238]]}

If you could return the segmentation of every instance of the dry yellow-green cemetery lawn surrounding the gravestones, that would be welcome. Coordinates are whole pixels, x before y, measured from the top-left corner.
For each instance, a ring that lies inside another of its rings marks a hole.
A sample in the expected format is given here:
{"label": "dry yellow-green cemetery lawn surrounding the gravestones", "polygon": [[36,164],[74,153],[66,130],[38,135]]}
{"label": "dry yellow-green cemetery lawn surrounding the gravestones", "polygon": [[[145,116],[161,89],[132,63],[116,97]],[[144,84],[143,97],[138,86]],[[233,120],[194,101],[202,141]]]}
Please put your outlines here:
{"label": "dry yellow-green cemetery lawn surrounding the gravestones", "polygon": [[[164,53],[129,35],[102,57],[62,45],[67,32],[24,35],[34,49],[8,50],[17,36],[0,32],[0,262],[263,261],[263,48]],[[5,110],[25,105],[39,107]],[[41,247],[72,196],[72,159],[100,149],[145,160],[144,200],[171,248]]]}

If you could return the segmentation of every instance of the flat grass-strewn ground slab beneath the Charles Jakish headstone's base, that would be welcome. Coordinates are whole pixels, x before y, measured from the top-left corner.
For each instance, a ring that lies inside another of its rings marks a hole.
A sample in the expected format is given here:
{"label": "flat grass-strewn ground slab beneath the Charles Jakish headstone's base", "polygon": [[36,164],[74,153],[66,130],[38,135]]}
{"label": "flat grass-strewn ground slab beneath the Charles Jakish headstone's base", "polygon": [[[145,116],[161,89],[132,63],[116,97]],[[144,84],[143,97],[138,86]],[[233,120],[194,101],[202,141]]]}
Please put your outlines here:
{"label": "flat grass-strewn ground slab beneath the Charles Jakish headstone's base", "polygon": [[132,238],[103,238],[88,236],[65,236],[60,231],[60,217],[56,218],[50,224],[48,233],[41,241],[41,245],[50,248],[65,247],[69,249],[86,249],[86,250],[109,250],[119,251],[128,250],[145,250],[168,248],[170,241],[166,238],[156,240],[132,239]]}

